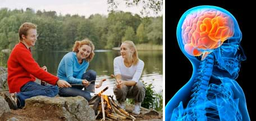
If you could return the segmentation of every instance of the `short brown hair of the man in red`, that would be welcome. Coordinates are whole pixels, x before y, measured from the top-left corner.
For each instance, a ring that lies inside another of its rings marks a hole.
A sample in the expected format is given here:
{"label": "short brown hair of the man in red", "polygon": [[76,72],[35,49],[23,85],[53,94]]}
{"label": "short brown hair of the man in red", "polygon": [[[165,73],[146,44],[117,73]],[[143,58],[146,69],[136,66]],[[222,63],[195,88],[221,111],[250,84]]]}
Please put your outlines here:
{"label": "short brown hair of the man in red", "polygon": [[19,29],[20,40],[22,40],[22,35],[25,35],[25,36],[28,35],[29,29],[36,29],[36,25],[31,22],[25,22],[20,26],[20,29]]}

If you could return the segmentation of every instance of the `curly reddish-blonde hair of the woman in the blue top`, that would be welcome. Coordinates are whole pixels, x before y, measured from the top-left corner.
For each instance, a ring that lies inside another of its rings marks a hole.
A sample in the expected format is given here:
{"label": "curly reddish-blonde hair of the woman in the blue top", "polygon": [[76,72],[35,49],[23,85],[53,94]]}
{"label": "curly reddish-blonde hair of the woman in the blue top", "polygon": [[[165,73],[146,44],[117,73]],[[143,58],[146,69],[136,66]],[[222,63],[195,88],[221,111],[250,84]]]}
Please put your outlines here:
{"label": "curly reddish-blonde hair of the woman in the blue top", "polygon": [[95,48],[94,48],[93,42],[90,41],[89,39],[84,39],[84,40],[81,40],[81,41],[75,41],[75,44],[73,46],[72,51],[78,53],[79,52],[79,48],[82,45],[88,45],[88,46],[90,46],[92,48],[92,51],[91,51],[89,57],[85,58],[85,60],[87,62],[90,62],[93,59],[93,57],[94,57],[94,49]]}

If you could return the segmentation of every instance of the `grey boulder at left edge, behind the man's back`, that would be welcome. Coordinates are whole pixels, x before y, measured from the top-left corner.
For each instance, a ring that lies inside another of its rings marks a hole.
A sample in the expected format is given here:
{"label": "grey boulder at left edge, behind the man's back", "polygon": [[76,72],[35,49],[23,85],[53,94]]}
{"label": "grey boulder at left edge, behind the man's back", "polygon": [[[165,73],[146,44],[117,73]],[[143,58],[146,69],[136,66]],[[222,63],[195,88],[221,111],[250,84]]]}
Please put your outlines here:
{"label": "grey boulder at left edge, behind the man's back", "polygon": [[0,67],[0,92],[9,91],[7,83],[7,68]]}

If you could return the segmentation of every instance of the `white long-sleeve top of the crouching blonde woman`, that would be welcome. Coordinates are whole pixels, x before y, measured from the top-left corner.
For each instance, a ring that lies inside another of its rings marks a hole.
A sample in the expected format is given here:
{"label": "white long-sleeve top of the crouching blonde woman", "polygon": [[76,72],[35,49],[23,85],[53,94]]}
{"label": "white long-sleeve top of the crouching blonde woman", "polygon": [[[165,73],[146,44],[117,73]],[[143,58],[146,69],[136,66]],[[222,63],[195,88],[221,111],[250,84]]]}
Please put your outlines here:
{"label": "white long-sleeve top of the crouching blonde woman", "polygon": [[139,59],[136,65],[131,67],[126,67],[124,63],[124,58],[121,56],[114,59],[114,74],[115,76],[120,74],[121,80],[123,81],[135,81],[138,82],[144,68],[144,62]]}

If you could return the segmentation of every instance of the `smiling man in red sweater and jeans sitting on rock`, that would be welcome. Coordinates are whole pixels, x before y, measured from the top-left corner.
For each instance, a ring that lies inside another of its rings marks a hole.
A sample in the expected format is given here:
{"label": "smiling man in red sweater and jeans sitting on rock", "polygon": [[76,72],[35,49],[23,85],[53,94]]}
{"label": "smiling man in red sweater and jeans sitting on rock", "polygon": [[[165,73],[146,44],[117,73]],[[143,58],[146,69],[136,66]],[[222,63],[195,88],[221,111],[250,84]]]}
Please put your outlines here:
{"label": "smiling man in red sweater and jeans sitting on rock", "polygon": [[[19,29],[20,42],[13,48],[7,62],[9,92],[5,93],[6,101],[11,109],[25,106],[25,99],[43,95],[54,97],[59,87],[71,87],[67,81],[59,80],[57,76],[44,71],[35,62],[31,54],[31,46],[37,40],[36,26],[25,22]],[[35,82],[35,77],[51,85],[42,86]]]}

